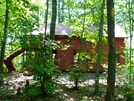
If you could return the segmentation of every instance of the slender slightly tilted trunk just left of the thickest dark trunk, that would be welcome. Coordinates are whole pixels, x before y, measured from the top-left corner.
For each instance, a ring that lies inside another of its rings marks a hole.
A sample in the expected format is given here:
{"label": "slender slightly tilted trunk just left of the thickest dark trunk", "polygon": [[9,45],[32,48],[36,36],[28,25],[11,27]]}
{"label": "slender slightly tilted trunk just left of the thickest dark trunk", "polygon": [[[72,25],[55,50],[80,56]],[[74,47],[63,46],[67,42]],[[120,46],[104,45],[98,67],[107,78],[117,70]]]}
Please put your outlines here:
{"label": "slender slightly tilted trunk just left of the thickest dark trunk", "polygon": [[102,37],[103,37],[104,6],[105,6],[105,0],[103,0],[102,5],[101,5],[99,40],[98,40],[98,54],[97,54],[97,60],[96,60],[95,90],[94,90],[94,93],[98,93],[98,90],[99,90],[99,71],[100,71]]}

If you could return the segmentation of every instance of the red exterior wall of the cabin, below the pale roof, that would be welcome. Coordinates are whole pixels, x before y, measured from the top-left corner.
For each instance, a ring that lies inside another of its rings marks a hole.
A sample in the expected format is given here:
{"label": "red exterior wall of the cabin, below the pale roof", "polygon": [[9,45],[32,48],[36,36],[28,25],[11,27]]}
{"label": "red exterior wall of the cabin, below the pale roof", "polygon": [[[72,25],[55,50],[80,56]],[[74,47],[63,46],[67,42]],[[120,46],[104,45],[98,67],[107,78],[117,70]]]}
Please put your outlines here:
{"label": "red exterior wall of the cabin, below the pale roof", "polygon": [[[58,66],[58,69],[59,70],[62,70],[62,71],[65,71],[68,69],[68,67],[72,67],[74,68],[74,51],[77,51],[77,50],[80,50],[80,38],[78,37],[73,37],[73,40],[71,42],[66,42],[66,39],[68,37],[67,36],[56,36],[55,37],[55,40],[62,40],[62,45],[65,46],[65,45],[70,45],[69,48],[67,48],[66,50],[57,50],[57,66]],[[81,49],[82,50],[85,50],[89,53],[89,55],[94,59],[94,57],[96,57],[96,54],[97,54],[97,46],[96,47],[93,47],[93,43],[91,42],[87,42],[87,43],[82,43],[82,46],[81,46]],[[103,51],[104,52],[108,52],[108,45],[103,45]],[[124,47],[124,38],[116,38],[116,51],[122,51],[122,48],[121,47]],[[102,59],[103,59],[103,56],[106,54],[102,54]],[[122,65],[125,63],[124,59],[121,57],[121,55],[124,55],[123,52],[120,52],[118,54],[118,60],[119,60],[119,63]],[[95,67],[96,67],[96,59],[94,62],[92,62],[92,58],[88,59],[88,62],[85,63],[85,64],[82,64],[82,66],[84,66],[86,68],[86,70],[89,70],[90,72],[95,72]],[[102,60],[102,63],[103,62],[107,62],[107,59],[103,59]],[[93,68],[90,68],[90,67],[93,67]],[[104,72],[104,68],[103,66],[101,66],[100,68],[100,72]]]}

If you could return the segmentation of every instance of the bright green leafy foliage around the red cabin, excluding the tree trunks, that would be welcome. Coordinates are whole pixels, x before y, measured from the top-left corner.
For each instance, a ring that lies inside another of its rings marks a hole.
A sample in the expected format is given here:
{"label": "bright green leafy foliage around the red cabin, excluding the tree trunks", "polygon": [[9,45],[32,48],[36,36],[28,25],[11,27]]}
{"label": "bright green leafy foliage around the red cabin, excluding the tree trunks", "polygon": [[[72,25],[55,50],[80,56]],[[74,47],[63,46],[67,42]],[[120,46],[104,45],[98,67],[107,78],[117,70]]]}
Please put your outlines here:
{"label": "bright green leafy foliage around the red cabin, excluding the tree trunks", "polygon": [[[100,5],[101,0],[62,0],[61,4],[64,2],[64,7],[61,8],[63,10],[63,14],[61,18],[64,18],[62,23],[68,24],[72,27],[73,33],[72,36],[75,35],[77,37],[81,36],[82,31],[82,22],[83,18],[85,17],[85,30],[83,32],[83,38],[86,41],[91,41],[94,43],[92,45],[93,48],[96,48],[97,41],[98,41],[98,25],[99,25],[99,18],[100,18]],[[126,0],[116,0],[115,2],[115,15],[116,15],[116,24],[121,25],[127,33],[129,33],[129,4],[133,6],[133,0],[126,1]],[[51,14],[50,11],[52,6],[51,2],[49,1],[49,13],[48,13],[48,22],[50,22]],[[124,5],[125,4],[125,5]],[[3,41],[3,28],[4,28],[4,18],[5,18],[5,0],[0,1],[0,41]],[[18,71],[21,71],[22,66],[26,66],[28,68],[33,68],[29,72],[34,75],[34,80],[36,81],[35,84],[30,85],[29,87],[25,88],[27,94],[30,95],[42,95],[44,93],[53,93],[55,90],[55,86],[52,80],[52,76],[54,75],[54,71],[56,70],[56,66],[54,61],[49,61],[50,51],[49,48],[53,48],[54,50],[57,48],[57,42],[52,40],[44,40],[44,33],[40,33],[40,35],[33,35],[31,34],[32,31],[38,30],[40,23],[44,22],[44,10],[46,6],[44,5],[43,0],[36,0],[36,1],[18,1],[18,0],[10,0],[9,4],[9,27],[8,27],[8,40],[7,40],[7,48],[6,48],[6,57],[13,54],[15,51],[19,50],[19,48],[28,48],[28,51],[25,52],[23,55],[18,56],[13,60],[15,66],[17,67]],[[84,12],[85,10],[86,12]],[[61,10],[60,10],[61,11]],[[105,9],[106,12],[106,9]],[[130,9],[131,20],[133,20],[133,11]],[[104,17],[104,24],[106,24],[106,13]],[[96,30],[89,30],[87,26],[96,26]],[[133,32],[132,32],[133,33]],[[39,33],[36,33],[39,34]],[[128,35],[129,36],[129,35]],[[72,39],[71,39],[72,40]],[[129,48],[129,42],[126,45],[124,53],[126,54],[123,58],[125,58],[126,64],[120,67],[119,74],[127,81],[124,88],[126,90],[126,96],[128,100],[133,100],[133,56],[132,61],[130,62],[130,50],[132,51],[133,55],[133,48]],[[107,39],[103,37],[103,44],[107,44]],[[63,50],[67,49],[69,46],[64,46],[60,44]],[[1,43],[0,43],[1,47]],[[101,64],[103,66],[107,66],[107,56],[108,53],[105,52],[104,49],[102,50],[102,61]],[[87,54],[86,52],[81,52],[80,59],[83,62],[86,59],[91,60],[90,63],[95,63],[96,61],[96,51],[89,50],[91,54]],[[22,59],[22,57],[24,59]],[[78,57],[76,57],[76,60]],[[54,59],[53,59],[54,60]],[[23,62],[22,64],[20,64]],[[132,64],[132,71],[130,73],[130,63]],[[77,68],[72,67],[75,66]],[[84,71],[84,65],[82,62],[75,63],[69,69],[70,80],[74,81],[75,85],[82,82],[83,80],[80,78],[82,75],[81,71]],[[89,66],[90,68],[93,67],[92,65]],[[6,71],[6,69],[4,70]],[[0,73],[0,77],[2,78],[3,75]],[[130,77],[132,79],[130,79]],[[43,88],[44,87],[44,88]],[[43,88],[43,89],[42,89]],[[86,100],[86,99],[83,99]]]}

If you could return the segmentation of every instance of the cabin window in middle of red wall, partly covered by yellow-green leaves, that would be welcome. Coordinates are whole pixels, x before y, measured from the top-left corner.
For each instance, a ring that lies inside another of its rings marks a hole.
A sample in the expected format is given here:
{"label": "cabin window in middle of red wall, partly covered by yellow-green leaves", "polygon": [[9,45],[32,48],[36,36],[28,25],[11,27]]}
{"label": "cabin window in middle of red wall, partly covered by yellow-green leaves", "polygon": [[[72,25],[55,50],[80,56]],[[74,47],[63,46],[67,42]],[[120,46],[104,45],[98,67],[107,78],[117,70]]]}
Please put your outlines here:
{"label": "cabin window in middle of red wall, partly covered by yellow-green leaves", "polygon": [[78,62],[79,58],[79,61],[86,63],[88,61],[88,59],[85,56],[86,54],[88,54],[87,51],[81,51],[79,56],[79,50],[75,50],[73,62]]}

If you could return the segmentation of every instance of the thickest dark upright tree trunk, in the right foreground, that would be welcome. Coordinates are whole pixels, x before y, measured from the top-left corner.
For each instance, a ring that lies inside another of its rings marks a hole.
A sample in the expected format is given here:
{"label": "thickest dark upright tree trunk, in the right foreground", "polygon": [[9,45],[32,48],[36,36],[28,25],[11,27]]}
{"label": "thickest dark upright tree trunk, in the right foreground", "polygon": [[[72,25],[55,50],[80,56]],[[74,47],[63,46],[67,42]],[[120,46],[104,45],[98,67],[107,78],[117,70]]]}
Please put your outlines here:
{"label": "thickest dark upright tree trunk, in the right foreground", "polygon": [[107,19],[108,19],[108,78],[107,92],[105,101],[114,101],[114,86],[115,86],[115,18],[114,18],[114,1],[107,0]]}

